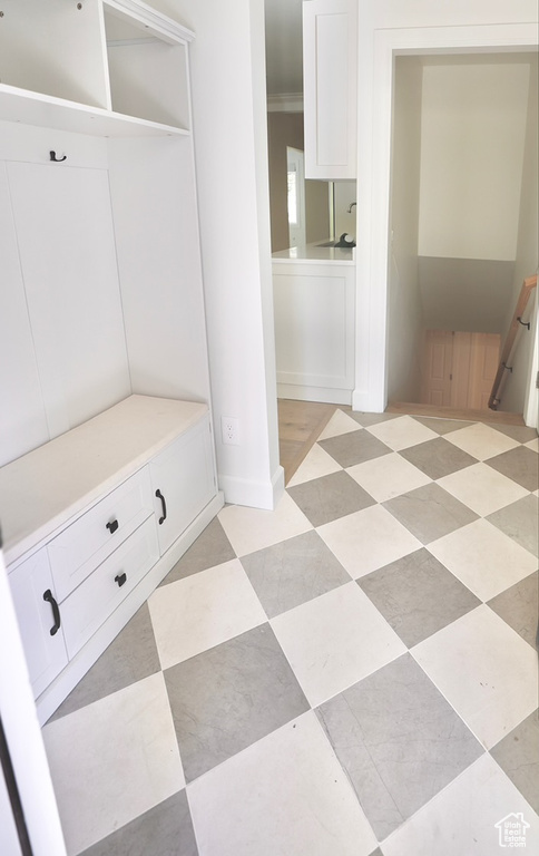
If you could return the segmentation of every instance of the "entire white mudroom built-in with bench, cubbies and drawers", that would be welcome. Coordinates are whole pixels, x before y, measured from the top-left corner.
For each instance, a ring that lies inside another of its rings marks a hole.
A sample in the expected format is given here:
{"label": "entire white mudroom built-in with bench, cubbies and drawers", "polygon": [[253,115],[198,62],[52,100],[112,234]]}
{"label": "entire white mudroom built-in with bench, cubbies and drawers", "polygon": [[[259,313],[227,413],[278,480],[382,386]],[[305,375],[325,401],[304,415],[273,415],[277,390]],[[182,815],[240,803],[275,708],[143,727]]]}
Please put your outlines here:
{"label": "entire white mudroom built-in with bench, cubbies and drawers", "polygon": [[194,35],[140,0],[0,11],[0,527],[45,721],[223,504]]}

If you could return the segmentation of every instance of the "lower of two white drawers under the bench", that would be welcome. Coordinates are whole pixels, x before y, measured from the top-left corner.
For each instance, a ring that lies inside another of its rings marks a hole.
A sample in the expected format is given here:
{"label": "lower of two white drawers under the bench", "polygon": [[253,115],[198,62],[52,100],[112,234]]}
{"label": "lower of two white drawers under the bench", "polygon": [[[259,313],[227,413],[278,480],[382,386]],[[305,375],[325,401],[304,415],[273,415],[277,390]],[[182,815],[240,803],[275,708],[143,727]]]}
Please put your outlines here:
{"label": "lower of two white drawers under the bench", "polygon": [[151,517],[61,604],[69,659],[88,642],[158,558],[156,524]]}

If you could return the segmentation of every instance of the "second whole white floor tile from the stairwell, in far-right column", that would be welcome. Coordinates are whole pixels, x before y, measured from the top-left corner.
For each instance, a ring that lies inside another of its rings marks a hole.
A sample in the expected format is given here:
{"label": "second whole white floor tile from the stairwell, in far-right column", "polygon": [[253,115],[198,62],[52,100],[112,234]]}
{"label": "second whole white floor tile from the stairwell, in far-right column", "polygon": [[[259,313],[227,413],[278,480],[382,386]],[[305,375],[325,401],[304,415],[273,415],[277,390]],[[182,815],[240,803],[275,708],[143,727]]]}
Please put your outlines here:
{"label": "second whole white floor tile from the stairwell, in far-right column", "polygon": [[483,517],[528,495],[528,490],[487,464],[474,464],[438,479],[440,487]]}

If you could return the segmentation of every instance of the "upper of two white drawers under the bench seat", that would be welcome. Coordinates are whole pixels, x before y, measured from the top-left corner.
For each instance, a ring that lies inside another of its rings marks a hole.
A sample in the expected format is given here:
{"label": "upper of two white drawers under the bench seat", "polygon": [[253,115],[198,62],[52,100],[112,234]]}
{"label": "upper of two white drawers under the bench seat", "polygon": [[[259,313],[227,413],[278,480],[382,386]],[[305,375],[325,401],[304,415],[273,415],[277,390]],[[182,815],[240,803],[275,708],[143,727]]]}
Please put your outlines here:
{"label": "upper of two white drawers under the bench seat", "polygon": [[47,549],[58,600],[63,601],[153,513],[151,484],[144,467],[53,538]]}

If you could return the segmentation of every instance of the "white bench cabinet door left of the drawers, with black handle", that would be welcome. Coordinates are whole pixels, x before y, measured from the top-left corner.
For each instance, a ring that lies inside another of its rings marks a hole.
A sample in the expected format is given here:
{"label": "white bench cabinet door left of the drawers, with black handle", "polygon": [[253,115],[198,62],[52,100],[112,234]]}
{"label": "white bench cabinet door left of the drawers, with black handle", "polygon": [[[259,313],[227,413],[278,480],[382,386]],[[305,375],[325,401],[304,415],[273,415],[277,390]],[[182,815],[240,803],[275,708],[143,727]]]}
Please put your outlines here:
{"label": "white bench cabinet door left of the drawers, with black handle", "polygon": [[56,593],[46,549],[9,574],[33,694],[37,698],[67,664]]}

